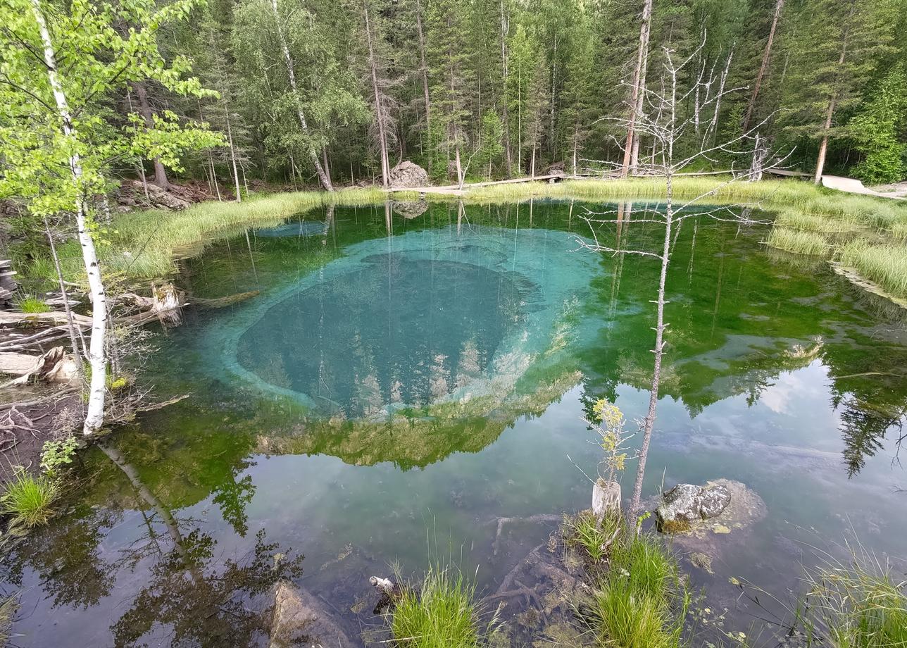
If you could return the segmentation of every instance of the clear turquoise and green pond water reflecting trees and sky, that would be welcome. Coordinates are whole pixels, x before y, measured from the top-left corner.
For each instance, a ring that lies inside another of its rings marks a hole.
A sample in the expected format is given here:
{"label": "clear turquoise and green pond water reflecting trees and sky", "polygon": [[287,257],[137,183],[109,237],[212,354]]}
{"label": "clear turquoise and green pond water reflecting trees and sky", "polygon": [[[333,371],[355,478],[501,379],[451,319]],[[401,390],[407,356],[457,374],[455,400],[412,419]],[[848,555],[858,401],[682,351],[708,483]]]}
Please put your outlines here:
{"label": "clear turquoise and green pond water reflecting trees and sky", "polygon": [[[267,643],[279,577],[374,630],[367,577],[439,555],[493,590],[553,528],[494,545],[501,516],[589,506],[590,403],[633,420],[648,399],[658,262],[579,250],[583,208],[337,208],[182,261],[193,295],[260,294],[157,335],[146,377],[190,398],[89,452],[67,511],[11,546],[16,645]],[[639,208],[595,235],[654,249]],[[684,558],[729,630],[765,614],[730,576],[784,596],[813,546],[907,555],[902,311],[765,237],[691,220],[673,241],[645,486],[728,477],[765,500],[696,547],[714,574]]]}

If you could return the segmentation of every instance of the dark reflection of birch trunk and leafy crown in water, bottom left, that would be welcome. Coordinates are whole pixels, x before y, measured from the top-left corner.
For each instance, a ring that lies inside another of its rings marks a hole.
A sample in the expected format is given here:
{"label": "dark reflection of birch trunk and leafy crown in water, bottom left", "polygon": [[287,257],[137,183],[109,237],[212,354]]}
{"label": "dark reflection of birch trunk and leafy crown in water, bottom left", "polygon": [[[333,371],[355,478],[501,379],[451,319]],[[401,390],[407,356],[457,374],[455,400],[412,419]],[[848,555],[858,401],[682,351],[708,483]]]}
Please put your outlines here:
{"label": "dark reflection of birch trunk and leafy crown in water, bottom left", "polygon": [[[134,645],[148,633],[156,634],[161,625],[168,628],[170,645],[239,646],[251,645],[257,636],[268,633],[269,606],[260,598],[281,578],[298,577],[302,557],[286,558],[278,545],[267,543],[265,532],[256,535],[255,547],[242,559],[227,559],[219,565],[214,559],[215,541],[200,528],[183,533],[180,521],[141,479],[139,471],[109,445],[102,452],[127,476],[141,499],[151,507],[171,539],[164,551],[149,524],[145,542],[133,543],[135,551],[154,559],[148,583],[132,602],[132,607],[113,624],[118,646]],[[225,519],[245,534],[245,503],[251,497],[250,480],[234,481],[219,491]],[[217,497],[215,499],[217,499]],[[151,552],[149,552],[151,549]],[[156,552],[158,555],[153,555]],[[122,560],[138,561],[124,555]]]}

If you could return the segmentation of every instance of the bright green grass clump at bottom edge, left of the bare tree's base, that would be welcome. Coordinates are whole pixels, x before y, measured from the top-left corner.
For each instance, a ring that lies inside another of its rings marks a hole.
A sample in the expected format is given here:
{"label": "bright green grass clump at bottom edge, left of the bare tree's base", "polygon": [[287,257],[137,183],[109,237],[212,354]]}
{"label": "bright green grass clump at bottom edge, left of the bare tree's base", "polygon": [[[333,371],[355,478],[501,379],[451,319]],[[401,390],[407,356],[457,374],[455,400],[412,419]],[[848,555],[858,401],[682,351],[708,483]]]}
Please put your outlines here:
{"label": "bright green grass clump at bottom edge, left of the bare tree's base", "polygon": [[397,645],[409,648],[474,648],[482,642],[475,585],[459,571],[432,567],[422,592],[405,588],[397,600],[391,630]]}

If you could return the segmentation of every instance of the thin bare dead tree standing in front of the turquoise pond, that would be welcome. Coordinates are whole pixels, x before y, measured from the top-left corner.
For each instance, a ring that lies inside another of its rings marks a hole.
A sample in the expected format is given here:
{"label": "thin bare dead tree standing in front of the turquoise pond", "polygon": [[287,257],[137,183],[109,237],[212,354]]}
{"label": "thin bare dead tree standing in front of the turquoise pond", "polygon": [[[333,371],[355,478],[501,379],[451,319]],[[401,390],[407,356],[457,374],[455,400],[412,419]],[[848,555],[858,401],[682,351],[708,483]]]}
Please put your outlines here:
{"label": "thin bare dead tree standing in front of the turquoise pond", "polygon": [[[704,66],[698,66],[695,63],[703,44],[705,44],[705,39],[703,39],[702,44],[697,47],[693,54],[679,62],[677,60],[678,55],[674,50],[664,48],[664,83],[660,83],[660,87],[657,90],[645,87],[640,88],[639,92],[642,93],[641,107],[639,110],[630,113],[623,123],[626,128],[633,129],[637,137],[645,138],[651,142],[653,151],[651,156],[652,172],[665,181],[665,202],[660,207],[646,207],[638,211],[633,219],[634,223],[651,222],[658,223],[664,227],[664,239],[660,249],[628,249],[620,243],[611,244],[600,238],[600,226],[610,224],[619,226],[622,224],[623,214],[619,209],[601,212],[587,210],[582,218],[590,224],[592,242],[579,237],[577,239],[580,247],[589,250],[610,252],[613,255],[635,254],[656,259],[660,262],[657,299],[654,299],[656,305],[655,326],[653,327],[655,330],[655,345],[652,349],[654,362],[652,381],[649,388],[649,408],[646,416],[639,421],[639,427],[642,431],[642,443],[638,454],[639,465],[637,467],[636,481],[628,508],[628,519],[631,527],[635,526],[639,515],[642,480],[645,475],[652,430],[655,426],[661,366],[667,346],[665,331],[668,329],[668,322],[665,321],[665,305],[668,304],[668,300],[665,299],[665,295],[672,250],[672,234],[675,228],[678,228],[687,219],[711,218],[716,221],[740,223],[761,222],[751,218],[751,209],[741,210],[741,208],[754,205],[747,205],[746,203],[723,206],[707,205],[709,196],[717,194],[718,191],[732,182],[746,179],[749,176],[749,172],[736,172],[732,168],[730,178],[726,181],[717,182],[714,187],[707,189],[707,191],[703,191],[701,194],[679,203],[675,200],[674,195],[676,176],[685,167],[694,162],[717,163],[718,157],[725,156],[729,156],[732,159],[750,160],[754,157],[754,152],[757,150],[760,151],[758,153],[760,155],[758,164],[760,169],[764,165],[777,165],[783,162],[775,158],[769,164],[766,161],[767,153],[762,152],[760,148],[765,144],[756,139],[756,133],[760,127],[764,126],[765,121],[755,124],[746,133],[741,133],[733,139],[725,142],[713,142],[713,135],[717,132],[718,108],[722,99],[728,94],[742,90],[742,88],[725,87],[726,71],[718,74],[714,72],[707,73]],[[682,87],[683,79],[687,78],[688,73],[694,66],[697,66],[698,69],[689,74],[691,80],[688,82],[688,87]],[[725,70],[727,70],[727,65]],[[697,94],[699,101],[696,109],[689,115],[685,115],[683,107],[688,105],[688,101]],[[703,129],[703,123],[700,118],[703,114],[708,113],[712,114],[706,124],[706,128]],[[766,121],[767,119],[768,117],[766,117]],[[628,145],[633,146],[633,142],[629,138]],[[624,162],[626,162],[626,157]],[[619,165],[615,164],[615,166],[619,168]]]}

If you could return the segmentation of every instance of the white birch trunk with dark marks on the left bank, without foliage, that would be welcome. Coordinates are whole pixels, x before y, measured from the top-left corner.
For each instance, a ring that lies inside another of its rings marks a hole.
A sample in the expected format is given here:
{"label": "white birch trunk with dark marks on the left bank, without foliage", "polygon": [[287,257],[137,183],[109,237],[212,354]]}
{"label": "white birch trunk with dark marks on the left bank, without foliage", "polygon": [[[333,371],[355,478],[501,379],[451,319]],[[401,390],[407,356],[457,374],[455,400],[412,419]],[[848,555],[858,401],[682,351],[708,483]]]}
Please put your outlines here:
{"label": "white birch trunk with dark marks on the left bank, without foliage", "polygon": [[[73,128],[69,104],[63,92],[63,84],[57,76],[56,56],[50,32],[44,22],[44,13],[41,9],[41,0],[32,0],[34,20],[38,24],[41,41],[44,44],[44,64],[47,67],[47,80],[54,92],[57,113],[60,117],[63,135],[67,140],[75,141],[76,133]],[[77,193],[75,202],[75,222],[78,229],[79,244],[82,247],[82,258],[85,273],[88,276],[89,293],[92,297],[92,338],[89,347],[89,360],[92,367],[92,380],[89,386],[88,408],[83,423],[83,433],[93,435],[102,426],[104,420],[104,398],[106,396],[107,358],[104,353],[104,335],[107,330],[107,298],[101,279],[101,268],[98,265],[97,253],[94,250],[94,241],[88,228],[85,201],[82,195],[82,162],[79,154],[73,152],[69,157],[69,172],[73,186]]]}

